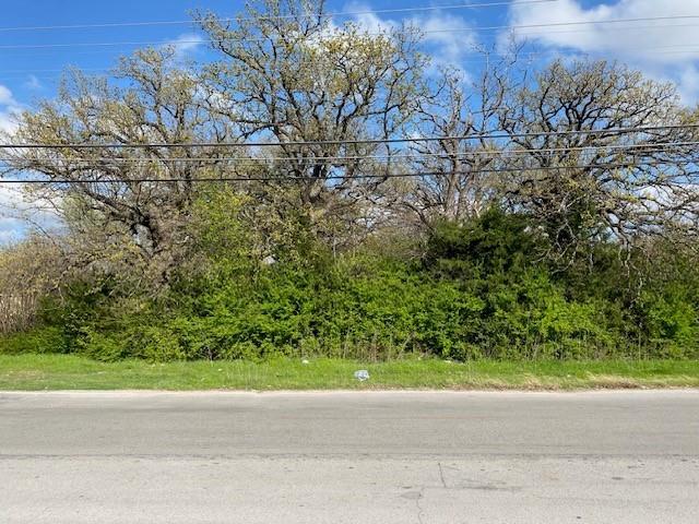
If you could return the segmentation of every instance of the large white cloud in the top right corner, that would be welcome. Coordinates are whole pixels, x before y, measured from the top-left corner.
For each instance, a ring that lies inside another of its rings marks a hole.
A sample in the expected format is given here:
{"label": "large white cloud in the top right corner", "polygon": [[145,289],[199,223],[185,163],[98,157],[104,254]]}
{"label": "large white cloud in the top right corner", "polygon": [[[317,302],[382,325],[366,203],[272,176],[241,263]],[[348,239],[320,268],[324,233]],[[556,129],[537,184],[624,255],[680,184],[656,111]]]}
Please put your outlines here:
{"label": "large white cloud in the top right corner", "polygon": [[[657,20],[570,26],[561,22],[609,22],[697,15],[699,0],[617,0],[585,8],[581,0],[510,7],[512,33],[554,49],[601,55],[632,63],[653,78],[673,80],[686,102],[699,96],[696,20]],[[531,27],[536,26],[538,27]],[[520,26],[520,28],[517,28]],[[530,27],[521,27],[530,26]],[[501,35],[505,36],[505,35]]]}

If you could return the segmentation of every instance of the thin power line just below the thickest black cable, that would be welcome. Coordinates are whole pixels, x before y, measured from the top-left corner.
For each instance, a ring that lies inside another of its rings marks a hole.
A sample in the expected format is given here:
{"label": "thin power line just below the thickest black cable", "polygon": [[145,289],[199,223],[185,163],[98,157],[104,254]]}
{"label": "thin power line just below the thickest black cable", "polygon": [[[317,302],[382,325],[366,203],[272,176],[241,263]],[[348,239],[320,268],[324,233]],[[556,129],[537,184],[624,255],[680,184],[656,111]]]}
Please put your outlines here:
{"label": "thin power line just below the thickest black cable", "polygon": [[86,158],[70,158],[70,157],[55,157],[55,158],[0,158],[0,162],[55,162],[58,163],[108,163],[114,162],[118,164],[151,164],[151,163],[163,163],[163,164],[175,164],[175,163],[234,163],[234,162],[251,162],[251,163],[264,163],[264,162],[358,162],[358,160],[401,160],[401,159],[423,159],[423,158],[439,158],[439,159],[450,159],[450,158],[469,158],[472,156],[520,156],[520,155],[531,155],[533,153],[568,153],[568,152],[595,152],[600,150],[604,151],[645,151],[649,150],[649,153],[662,152],[668,148],[676,147],[689,147],[699,145],[699,141],[689,141],[689,142],[659,142],[659,143],[644,143],[644,144],[613,144],[613,145],[585,145],[585,146],[571,146],[571,147],[541,147],[541,148],[520,148],[520,150],[478,150],[478,151],[467,151],[467,152],[458,152],[458,153],[435,153],[435,152],[426,152],[420,153],[416,152],[414,154],[395,154],[395,155],[355,155],[355,156],[225,156],[225,157],[215,157],[215,156],[203,156],[203,157],[166,157],[166,158],[128,158],[128,157],[114,157],[114,156],[98,156],[98,157],[86,157]]}

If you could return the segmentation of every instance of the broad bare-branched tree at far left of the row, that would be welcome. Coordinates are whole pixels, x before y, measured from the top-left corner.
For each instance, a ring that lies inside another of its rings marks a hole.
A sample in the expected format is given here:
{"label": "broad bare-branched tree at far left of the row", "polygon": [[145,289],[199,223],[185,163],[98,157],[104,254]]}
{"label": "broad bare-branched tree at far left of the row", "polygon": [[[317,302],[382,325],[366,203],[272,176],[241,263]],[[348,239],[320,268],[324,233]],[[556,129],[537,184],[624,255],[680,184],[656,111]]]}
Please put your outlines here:
{"label": "broad bare-branched tree at far left of the row", "polygon": [[197,75],[175,58],[173,48],[138,51],[114,83],[73,71],[56,99],[20,118],[13,142],[50,147],[10,151],[10,169],[45,180],[33,194],[61,210],[86,265],[140,261],[167,278],[187,242],[194,180],[230,154],[173,147],[229,136],[202,108]]}

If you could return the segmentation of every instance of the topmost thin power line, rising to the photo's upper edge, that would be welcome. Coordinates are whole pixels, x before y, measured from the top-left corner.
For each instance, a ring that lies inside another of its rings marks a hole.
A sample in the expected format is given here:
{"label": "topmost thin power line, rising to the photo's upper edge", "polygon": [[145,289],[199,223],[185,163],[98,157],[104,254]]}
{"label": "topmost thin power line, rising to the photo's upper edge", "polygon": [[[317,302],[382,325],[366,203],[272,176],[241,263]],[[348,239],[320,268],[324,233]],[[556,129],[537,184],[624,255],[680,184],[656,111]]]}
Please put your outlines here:
{"label": "topmost thin power line, rising to the photo's upper edge", "polygon": [[[524,5],[532,3],[554,3],[559,0],[519,0],[511,1],[496,1],[496,2],[470,2],[470,3],[454,3],[448,5],[423,5],[414,8],[394,8],[394,9],[377,9],[377,10],[364,10],[364,11],[339,11],[329,13],[308,13],[308,14],[289,14],[282,16],[229,16],[220,19],[222,22],[237,22],[237,21],[251,21],[251,20],[289,20],[289,19],[330,19],[333,16],[360,16],[364,14],[395,14],[395,13],[418,13],[427,11],[453,11],[461,9],[477,9],[477,8],[496,8],[496,7],[509,7],[509,5]],[[169,20],[169,21],[144,21],[144,22],[106,22],[100,24],[69,24],[69,25],[35,25],[35,26],[15,26],[15,27],[0,27],[0,33],[21,32],[21,31],[54,31],[54,29],[90,29],[90,28],[108,28],[108,27],[149,27],[149,26],[162,26],[162,25],[190,25],[196,22],[189,20]]]}

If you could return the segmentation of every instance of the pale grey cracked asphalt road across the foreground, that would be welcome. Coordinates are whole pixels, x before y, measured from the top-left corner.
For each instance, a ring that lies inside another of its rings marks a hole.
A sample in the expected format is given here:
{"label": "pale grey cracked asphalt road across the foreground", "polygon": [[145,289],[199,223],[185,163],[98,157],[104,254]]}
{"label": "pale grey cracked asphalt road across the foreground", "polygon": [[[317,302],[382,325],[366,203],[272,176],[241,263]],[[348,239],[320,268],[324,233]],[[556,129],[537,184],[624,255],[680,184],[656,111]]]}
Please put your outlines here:
{"label": "pale grey cracked asphalt road across the foreground", "polygon": [[0,393],[0,522],[699,522],[699,392]]}

